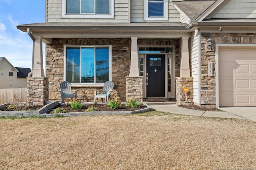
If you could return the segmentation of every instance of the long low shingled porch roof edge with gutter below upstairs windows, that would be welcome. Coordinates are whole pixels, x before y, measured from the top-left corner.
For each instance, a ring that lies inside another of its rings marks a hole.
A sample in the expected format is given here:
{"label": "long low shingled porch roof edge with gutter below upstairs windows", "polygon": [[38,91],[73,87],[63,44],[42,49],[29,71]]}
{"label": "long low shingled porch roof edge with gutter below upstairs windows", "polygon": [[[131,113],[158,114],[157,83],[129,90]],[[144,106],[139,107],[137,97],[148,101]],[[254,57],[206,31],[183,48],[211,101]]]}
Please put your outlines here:
{"label": "long low shingled porch roof edge with gutter below upstairs windows", "polygon": [[98,30],[98,29],[109,29],[109,30],[170,30],[170,29],[184,29],[186,30],[185,23],[177,22],[166,22],[166,23],[30,23],[24,25],[17,25],[17,28],[23,32],[27,32],[27,28],[33,29],[33,32],[40,32],[40,30],[60,30],[70,29],[76,30]]}

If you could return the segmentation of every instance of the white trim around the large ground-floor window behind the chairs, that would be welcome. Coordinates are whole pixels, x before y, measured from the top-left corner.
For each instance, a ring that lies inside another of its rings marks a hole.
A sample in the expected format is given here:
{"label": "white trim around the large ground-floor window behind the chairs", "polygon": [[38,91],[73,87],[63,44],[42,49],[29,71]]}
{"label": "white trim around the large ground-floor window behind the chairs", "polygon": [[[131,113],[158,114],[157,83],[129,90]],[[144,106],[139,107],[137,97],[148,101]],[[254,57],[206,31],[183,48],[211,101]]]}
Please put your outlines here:
{"label": "white trim around the large ground-floor window behind the chairs", "polygon": [[[66,63],[67,63],[67,47],[108,47],[108,67],[109,67],[109,72],[108,72],[108,80],[112,81],[112,45],[64,45],[64,53],[63,53],[63,58],[64,58],[64,70],[63,70],[63,80],[66,81]],[[104,83],[72,83],[74,86],[103,86]]]}

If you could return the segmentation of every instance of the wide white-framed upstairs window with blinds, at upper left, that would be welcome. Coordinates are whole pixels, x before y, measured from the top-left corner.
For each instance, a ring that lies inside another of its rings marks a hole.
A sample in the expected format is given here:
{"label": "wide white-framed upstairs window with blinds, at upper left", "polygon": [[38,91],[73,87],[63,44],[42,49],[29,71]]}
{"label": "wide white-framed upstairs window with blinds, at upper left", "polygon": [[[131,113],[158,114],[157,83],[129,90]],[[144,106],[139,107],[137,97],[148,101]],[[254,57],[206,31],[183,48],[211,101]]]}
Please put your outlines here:
{"label": "wide white-framed upstairs window with blinds, at upper left", "polygon": [[63,18],[114,18],[114,0],[62,0]]}

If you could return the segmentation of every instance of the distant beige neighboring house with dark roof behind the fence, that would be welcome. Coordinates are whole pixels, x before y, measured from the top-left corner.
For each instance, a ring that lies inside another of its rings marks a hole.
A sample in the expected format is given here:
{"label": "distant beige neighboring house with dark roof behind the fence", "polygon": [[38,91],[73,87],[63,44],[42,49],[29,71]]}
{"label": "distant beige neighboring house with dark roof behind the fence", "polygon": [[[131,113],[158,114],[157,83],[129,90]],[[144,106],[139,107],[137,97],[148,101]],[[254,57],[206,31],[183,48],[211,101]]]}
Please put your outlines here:
{"label": "distant beige neighboring house with dark roof behind the fence", "polygon": [[30,68],[14,67],[5,57],[0,57],[0,88],[25,88]]}

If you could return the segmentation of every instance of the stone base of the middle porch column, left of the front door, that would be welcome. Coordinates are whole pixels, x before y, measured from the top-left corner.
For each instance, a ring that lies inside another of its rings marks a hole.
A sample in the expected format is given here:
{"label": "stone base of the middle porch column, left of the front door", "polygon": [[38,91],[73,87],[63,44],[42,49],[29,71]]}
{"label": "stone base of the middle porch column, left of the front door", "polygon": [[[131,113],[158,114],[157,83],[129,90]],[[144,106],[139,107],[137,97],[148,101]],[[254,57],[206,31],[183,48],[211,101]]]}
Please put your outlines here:
{"label": "stone base of the middle porch column, left of the front door", "polygon": [[126,78],[126,101],[137,99],[142,102],[143,76],[125,77]]}

